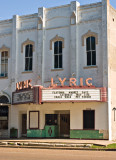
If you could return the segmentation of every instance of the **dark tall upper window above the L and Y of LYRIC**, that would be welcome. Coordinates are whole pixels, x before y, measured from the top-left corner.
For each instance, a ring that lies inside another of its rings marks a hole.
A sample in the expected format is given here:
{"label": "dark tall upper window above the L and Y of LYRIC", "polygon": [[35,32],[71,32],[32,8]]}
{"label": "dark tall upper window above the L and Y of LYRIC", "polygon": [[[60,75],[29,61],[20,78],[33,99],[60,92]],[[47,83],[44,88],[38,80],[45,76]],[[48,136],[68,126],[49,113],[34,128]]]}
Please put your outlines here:
{"label": "dark tall upper window above the L and Y of LYRIC", "polygon": [[62,68],[62,41],[54,42],[54,68]]}

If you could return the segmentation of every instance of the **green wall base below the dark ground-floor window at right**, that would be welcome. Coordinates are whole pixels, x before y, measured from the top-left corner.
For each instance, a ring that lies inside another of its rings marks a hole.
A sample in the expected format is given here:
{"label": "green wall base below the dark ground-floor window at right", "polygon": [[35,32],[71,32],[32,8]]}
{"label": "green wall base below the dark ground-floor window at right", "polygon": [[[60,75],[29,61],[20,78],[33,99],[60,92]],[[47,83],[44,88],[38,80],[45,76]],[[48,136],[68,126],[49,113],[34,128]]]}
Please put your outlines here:
{"label": "green wall base below the dark ground-floor window at right", "polygon": [[70,130],[70,138],[103,139],[103,133],[99,130]]}

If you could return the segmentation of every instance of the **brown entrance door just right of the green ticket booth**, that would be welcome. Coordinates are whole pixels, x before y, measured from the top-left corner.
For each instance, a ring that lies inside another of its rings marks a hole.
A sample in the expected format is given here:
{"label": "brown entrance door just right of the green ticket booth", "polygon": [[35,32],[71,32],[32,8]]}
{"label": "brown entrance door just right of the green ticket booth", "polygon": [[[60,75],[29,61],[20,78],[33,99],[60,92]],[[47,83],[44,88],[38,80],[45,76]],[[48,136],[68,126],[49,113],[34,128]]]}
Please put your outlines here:
{"label": "brown entrance door just right of the green ticket booth", "polygon": [[70,114],[60,114],[60,136],[70,136]]}

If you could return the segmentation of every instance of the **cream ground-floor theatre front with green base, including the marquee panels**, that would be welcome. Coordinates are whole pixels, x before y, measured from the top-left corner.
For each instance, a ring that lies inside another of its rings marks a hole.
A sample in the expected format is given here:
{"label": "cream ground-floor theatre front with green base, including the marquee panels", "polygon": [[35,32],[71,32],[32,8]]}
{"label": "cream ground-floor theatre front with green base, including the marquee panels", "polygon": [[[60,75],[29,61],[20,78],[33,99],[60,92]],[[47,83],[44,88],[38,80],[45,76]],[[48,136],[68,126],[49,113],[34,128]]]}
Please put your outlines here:
{"label": "cream ground-floor theatre front with green base, including the marquee panels", "polygon": [[11,125],[18,137],[108,139],[107,90],[87,84],[13,93]]}

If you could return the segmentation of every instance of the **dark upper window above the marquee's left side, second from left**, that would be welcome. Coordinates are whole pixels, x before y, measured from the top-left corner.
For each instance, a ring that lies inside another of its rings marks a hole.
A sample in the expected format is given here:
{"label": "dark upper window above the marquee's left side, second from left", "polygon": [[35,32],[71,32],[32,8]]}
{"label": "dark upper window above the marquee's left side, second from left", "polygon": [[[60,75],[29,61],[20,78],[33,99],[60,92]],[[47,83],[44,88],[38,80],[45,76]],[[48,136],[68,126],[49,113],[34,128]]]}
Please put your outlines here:
{"label": "dark upper window above the marquee's left side, second from left", "polygon": [[33,45],[25,46],[25,71],[32,71],[33,65]]}

